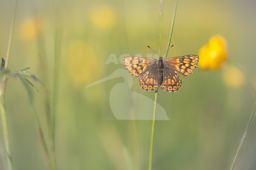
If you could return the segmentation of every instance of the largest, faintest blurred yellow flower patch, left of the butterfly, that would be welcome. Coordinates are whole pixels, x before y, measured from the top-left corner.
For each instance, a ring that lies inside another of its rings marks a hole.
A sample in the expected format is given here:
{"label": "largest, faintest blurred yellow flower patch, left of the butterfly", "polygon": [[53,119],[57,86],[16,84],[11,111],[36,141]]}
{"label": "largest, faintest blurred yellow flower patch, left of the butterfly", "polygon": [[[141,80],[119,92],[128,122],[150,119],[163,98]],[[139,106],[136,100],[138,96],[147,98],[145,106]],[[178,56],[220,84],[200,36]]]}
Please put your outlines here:
{"label": "largest, faintest blurred yellow flower patch, left of the butterfly", "polygon": [[78,83],[97,79],[100,75],[99,54],[93,45],[84,41],[71,42],[67,49],[67,71]]}

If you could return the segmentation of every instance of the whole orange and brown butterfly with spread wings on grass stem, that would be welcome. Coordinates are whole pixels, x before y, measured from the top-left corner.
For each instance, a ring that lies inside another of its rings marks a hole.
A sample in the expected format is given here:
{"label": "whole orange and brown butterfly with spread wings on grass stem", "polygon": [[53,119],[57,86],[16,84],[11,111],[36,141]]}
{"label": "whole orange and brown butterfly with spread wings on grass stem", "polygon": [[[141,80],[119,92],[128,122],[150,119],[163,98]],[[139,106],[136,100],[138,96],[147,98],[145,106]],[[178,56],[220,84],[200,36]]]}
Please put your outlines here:
{"label": "whole orange and brown butterfly with spread wings on grass stem", "polygon": [[124,57],[126,69],[139,78],[139,84],[146,91],[161,89],[174,92],[180,89],[182,85],[181,77],[192,74],[193,69],[197,67],[198,55],[185,55],[180,57],[171,57],[164,59],[159,57]]}

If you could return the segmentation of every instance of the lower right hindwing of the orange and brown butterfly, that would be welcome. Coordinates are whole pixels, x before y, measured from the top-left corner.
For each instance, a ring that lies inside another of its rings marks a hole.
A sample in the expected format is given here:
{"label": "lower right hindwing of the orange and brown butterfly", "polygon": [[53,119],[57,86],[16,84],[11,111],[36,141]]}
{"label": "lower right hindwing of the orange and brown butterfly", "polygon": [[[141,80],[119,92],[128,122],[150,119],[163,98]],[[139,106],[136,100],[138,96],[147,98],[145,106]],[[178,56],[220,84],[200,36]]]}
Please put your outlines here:
{"label": "lower right hindwing of the orange and brown butterfly", "polygon": [[180,75],[170,67],[165,66],[161,88],[169,92],[174,92],[179,90],[181,85],[182,80]]}

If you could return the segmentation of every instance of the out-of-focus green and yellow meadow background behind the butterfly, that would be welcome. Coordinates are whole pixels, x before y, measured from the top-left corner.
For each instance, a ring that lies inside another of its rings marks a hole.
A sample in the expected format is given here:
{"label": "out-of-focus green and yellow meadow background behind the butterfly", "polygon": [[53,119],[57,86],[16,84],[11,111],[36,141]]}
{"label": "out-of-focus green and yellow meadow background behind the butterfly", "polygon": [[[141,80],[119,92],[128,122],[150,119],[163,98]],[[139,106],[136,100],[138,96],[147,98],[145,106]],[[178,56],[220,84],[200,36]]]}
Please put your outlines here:
{"label": "out-of-focus green and yellow meadow background behind the butterfly", "polygon": [[[42,79],[38,48],[43,44],[50,96],[55,68],[54,29],[56,24],[60,26],[56,105],[59,170],[148,168],[152,121],[118,120],[111,112],[109,103],[120,105],[110,101],[109,96],[117,84],[124,83],[122,75],[85,87],[117,69],[124,69],[125,54],[152,54],[147,45],[158,51],[159,3],[155,0],[59,1],[56,10],[52,1],[18,2],[9,69],[14,72],[30,67],[29,72]],[[153,169],[230,169],[256,98],[255,7],[256,1],[251,0],[178,2],[171,41],[174,47],[168,57],[198,55],[210,37],[219,34],[226,38],[229,58],[220,69],[198,67],[189,77],[182,77],[182,88],[175,93],[158,91],[158,104],[170,120],[156,121]],[[173,10],[174,0],[166,0],[161,54],[167,46]],[[0,56],[5,57],[13,2],[1,1],[0,11]],[[43,37],[41,41],[38,31]],[[133,77],[133,81],[132,92],[154,100],[154,92],[143,91],[138,78]],[[45,130],[45,89],[37,82],[33,84],[39,89],[39,92],[34,90],[35,107]],[[115,93],[113,99],[128,101],[127,90]],[[148,106],[145,109],[153,108],[152,102],[140,102]],[[19,79],[11,78],[7,82],[6,106],[14,170],[47,169],[28,94]],[[152,112],[149,109],[148,114]],[[256,169],[255,134],[254,122],[235,170]],[[3,142],[0,151],[4,156]],[[4,163],[5,158],[1,157],[0,169]]]}

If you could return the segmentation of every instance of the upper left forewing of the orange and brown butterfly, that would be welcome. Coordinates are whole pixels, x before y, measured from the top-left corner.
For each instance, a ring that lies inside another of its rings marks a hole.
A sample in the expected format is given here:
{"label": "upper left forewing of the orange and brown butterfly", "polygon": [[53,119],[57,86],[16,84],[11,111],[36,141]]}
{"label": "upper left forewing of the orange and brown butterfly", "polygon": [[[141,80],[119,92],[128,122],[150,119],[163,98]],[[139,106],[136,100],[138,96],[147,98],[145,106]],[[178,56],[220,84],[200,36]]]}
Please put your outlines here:
{"label": "upper left forewing of the orange and brown butterfly", "polygon": [[155,67],[156,62],[156,58],[150,57],[124,57],[124,65],[126,69],[135,77],[139,77],[152,67]]}

